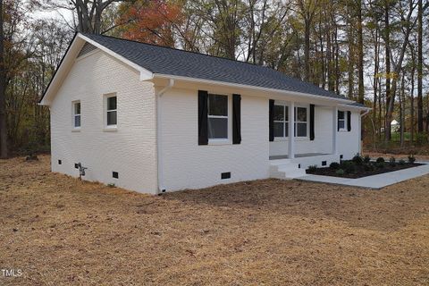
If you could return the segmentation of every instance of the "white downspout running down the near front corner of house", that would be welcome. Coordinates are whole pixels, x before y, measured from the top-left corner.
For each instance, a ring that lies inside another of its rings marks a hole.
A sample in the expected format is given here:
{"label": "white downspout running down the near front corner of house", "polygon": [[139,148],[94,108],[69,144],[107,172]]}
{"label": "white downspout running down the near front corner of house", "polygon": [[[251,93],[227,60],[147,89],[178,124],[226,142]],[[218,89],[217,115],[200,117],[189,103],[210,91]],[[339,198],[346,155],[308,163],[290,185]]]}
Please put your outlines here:
{"label": "white downspout running down the near front corner of house", "polygon": [[167,86],[161,89],[156,94],[156,155],[157,155],[157,179],[158,186],[156,189],[156,195],[163,193],[165,191],[163,185],[163,156],[162,156],[162,127],[161,127],[161,119],[162,119],[162,108],[161,108],[161,97],[163,97],[164,93],[167,92],[174,85],[174,80],[169,79]]}

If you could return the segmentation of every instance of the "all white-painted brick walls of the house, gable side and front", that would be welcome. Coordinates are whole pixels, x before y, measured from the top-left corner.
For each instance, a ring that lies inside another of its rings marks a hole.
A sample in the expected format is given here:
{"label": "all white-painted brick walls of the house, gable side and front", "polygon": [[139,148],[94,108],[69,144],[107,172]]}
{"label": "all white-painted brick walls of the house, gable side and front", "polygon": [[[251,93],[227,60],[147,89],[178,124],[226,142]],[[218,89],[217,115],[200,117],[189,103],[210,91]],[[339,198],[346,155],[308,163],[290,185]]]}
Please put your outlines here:
{"label": "all white-painted brick walls of the house, gable side and front", "polygon": [[[218,90],[220,94],[224,91]],[[216,92],[210,90],[210,92]],[[105,131],[104,95],[118,97],[118,129]],[[162,181],[167,191],[198,189],[269,177],[269,156],[287,154],[287,142],[268,141],[268,98],[241,94],[240,145],[198,146],[198,87],[172,88],[161,97]],[[73,101],[80,100],[81,129],[72,128]],[[75,163],[88,167],[88,181],[114,183],[156,193],[156,97],[153,83],[98,51],[78,60],[51,105],[52,170],[77,177]],[[359,114],[352,131],[339,132],[339,154],[359,148]],[[231,122],[230,122],[231,123]],[[332,109],[315,108],[315,141],[296,143],[297,153],[331,153]],[[58,164],[62,160],[63,164]],[[119,179],[112,177],[119,172]],[[222,172],[231,179],[221,180]]]}

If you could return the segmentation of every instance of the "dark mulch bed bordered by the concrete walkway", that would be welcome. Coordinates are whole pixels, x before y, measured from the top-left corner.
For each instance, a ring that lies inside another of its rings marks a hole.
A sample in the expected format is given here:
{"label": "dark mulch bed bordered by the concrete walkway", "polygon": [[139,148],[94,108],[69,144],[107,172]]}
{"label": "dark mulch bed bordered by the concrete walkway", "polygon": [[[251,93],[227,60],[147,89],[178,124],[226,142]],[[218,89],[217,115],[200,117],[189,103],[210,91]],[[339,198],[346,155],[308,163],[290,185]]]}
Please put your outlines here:
{"label": "dark mulch bed bordered by the concrete walkway", "polygon": [[309,170],[307,170],[306,172],[311,173],[313,175],[358,179],[358,178],[363,178],[363,177],[367,177],[367,176],[377,175],[380,173],[394,172],[394,171],[399,171],[399,170],[408,169],[408,168],[412,168],[412,167],[416,167],[416,166],[421,165],[421,164],[416,164],[416,163],[405,163],[402,165],[396,164],[394,166],[391,166],[389,163],[386,162],[386,163],[384,163],[383,169],[380,169],[380,168],[377,168],[377,166],[375,165],[375,162],[371,162],[371,164],[374,165],[374,170],[367,171],[367,170],[365,170],[364,165],[355,165],[356,166],[355,172],[349,172],[349,173],[344,172],[344,174],[342,174],[342,175],[339,175],[337,173],[336,169],[332,169],[330,167],[317,168],[315,170],[315,172],[310,172]]}

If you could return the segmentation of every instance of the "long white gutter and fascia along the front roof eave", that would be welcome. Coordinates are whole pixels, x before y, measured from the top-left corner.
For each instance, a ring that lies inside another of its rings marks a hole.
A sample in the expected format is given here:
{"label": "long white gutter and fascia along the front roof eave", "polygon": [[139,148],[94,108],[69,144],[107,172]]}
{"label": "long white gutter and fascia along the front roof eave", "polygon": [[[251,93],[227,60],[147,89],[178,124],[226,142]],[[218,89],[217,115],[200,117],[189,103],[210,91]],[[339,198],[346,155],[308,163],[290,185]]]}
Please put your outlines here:
{"label": "long white gutter and fascia along the front roof eave", "polygon": [[284,94],[287,96],[307,97],[307,98],[315,98],[315,99],[319,99],[319,100],[327,100],[327,101],[337,102],[339,104],[352,104],[352,103],[354,103],[353,100],[349,100],[349,99],[341,99],[341,98],[334,98],[334,97],[322,97],[322,96],[316,96],[316,95],[311,95],[311,94],[297,92],[297,91],[289,91],[289,90],[282,90],[282,89],[276,89],[276,88],[261,88],[261,87],[255,87],[255,86],[240,84],[240,83],[231,83],[231,82],[224,82],[224,81],[218,81],[218,80],[203,80],[203,79],[181,77],[181,76],[160,74],[160,73],[154,73],[153,77],[154,78],[160,78],[160,79],[172,79],[172,80],[183,80],[183,81],[189,81],[189,82],[200,82],[200,83],[204,83],[204,84],[226,86],[226,87],[231,87],[231,88],[248,88],[248,89],[254,89],[254,90],[261,90],[261,91],[265,91],[265,92],[280,93],[280,94]]}

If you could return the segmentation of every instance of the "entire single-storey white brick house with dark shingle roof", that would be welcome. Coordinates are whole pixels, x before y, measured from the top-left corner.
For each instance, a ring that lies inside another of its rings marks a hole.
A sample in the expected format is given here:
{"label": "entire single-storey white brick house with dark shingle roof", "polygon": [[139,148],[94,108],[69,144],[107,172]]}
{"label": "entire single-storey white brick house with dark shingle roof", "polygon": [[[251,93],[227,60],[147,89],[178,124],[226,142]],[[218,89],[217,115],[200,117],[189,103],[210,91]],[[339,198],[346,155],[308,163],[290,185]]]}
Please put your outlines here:
{"label": "entire single-storey white brick house with dark shingle roof", "polygon": [[368,109],[279,71],[77,34],[41,105],[52,171],[156,194],[295,178],[360,151]]}

